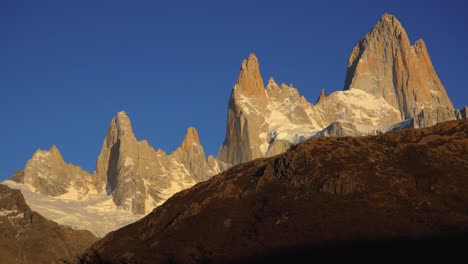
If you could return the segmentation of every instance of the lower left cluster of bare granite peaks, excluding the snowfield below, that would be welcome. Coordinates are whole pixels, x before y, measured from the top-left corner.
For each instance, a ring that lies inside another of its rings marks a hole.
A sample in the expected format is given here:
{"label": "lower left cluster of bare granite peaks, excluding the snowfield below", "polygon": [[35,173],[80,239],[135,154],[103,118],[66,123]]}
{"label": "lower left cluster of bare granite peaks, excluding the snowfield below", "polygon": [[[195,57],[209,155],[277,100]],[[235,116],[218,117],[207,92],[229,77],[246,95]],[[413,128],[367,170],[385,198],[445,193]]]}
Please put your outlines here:
{"label": "lower left cluster of bare granite peaks, excluding the snowfield below", "polygon": [[[189,128],[182,145],[167,155],[146,140],[138,141],[130,118],[119,112],[109,125],[92,175],[65,163],[53,146],[49,151],[38,150],[11,180],[27,185],[20,187],[28,190],[32,186],[33,192],[64,199],[109,195],[115,205],[134,214],[145,214],[173,194],[227,167],[212,156],[207,162],[195,128]],[[53,214],[52,219],[60,215]],[[55,220],[66,222],[62,218]]]}

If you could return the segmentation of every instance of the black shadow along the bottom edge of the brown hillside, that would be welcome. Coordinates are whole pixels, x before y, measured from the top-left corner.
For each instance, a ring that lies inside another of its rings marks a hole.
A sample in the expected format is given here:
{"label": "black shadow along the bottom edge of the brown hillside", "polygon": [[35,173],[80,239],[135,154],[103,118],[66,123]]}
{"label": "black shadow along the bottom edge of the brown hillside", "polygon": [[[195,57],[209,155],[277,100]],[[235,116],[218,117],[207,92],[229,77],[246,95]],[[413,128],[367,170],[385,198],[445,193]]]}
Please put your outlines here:
{"label": "black shadow along the bottom edge of the brown hillside", "polygon": [[[254,257],[235,258],[230,262],[217,262],[199,258],[190,263],[314,263],[317,261],[358,261],[358,263],[401,263],[416,260],[417,263],[428,261],[442,261],[441,263],[455,263],[455,260],[465,260],[468,254],[468,233],[443,237],[429,237],[418,239],[392,240],[359,240],[346,243],[334,243],[321,246],[304,246],[290,249],[277,249]],[[175,252],[177,255],[177,252]],[[144,258],[142,258],[144,259]],[[146,262],[148,261],[148,262]],[[97,253],[80,256],[67,264],[107,264]],[[117,262],[132,263],[132,262]],[[136,262],[140,263],[140,262]],[[145,259],[144,263],[152,263]],[[178,263],[168,259],[164,264]],[[318,263],[318,262],[317,262]],[[461,261],[460,263],[463,263]]]}

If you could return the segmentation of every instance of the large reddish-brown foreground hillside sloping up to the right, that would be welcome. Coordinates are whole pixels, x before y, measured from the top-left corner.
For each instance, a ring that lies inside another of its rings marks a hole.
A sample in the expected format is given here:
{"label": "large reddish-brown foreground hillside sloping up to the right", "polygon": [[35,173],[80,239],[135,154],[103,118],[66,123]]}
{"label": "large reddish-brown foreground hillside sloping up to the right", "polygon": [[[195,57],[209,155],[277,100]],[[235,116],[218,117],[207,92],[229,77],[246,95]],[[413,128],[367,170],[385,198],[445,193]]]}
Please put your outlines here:
{"label": "large reddish-brown foreground hillside sloping up to the right", "polygon": [[466,232],[467,149],[466,119],[310,139],[176,194],[94,244],[88,261],[226,262],[303,246]]}

